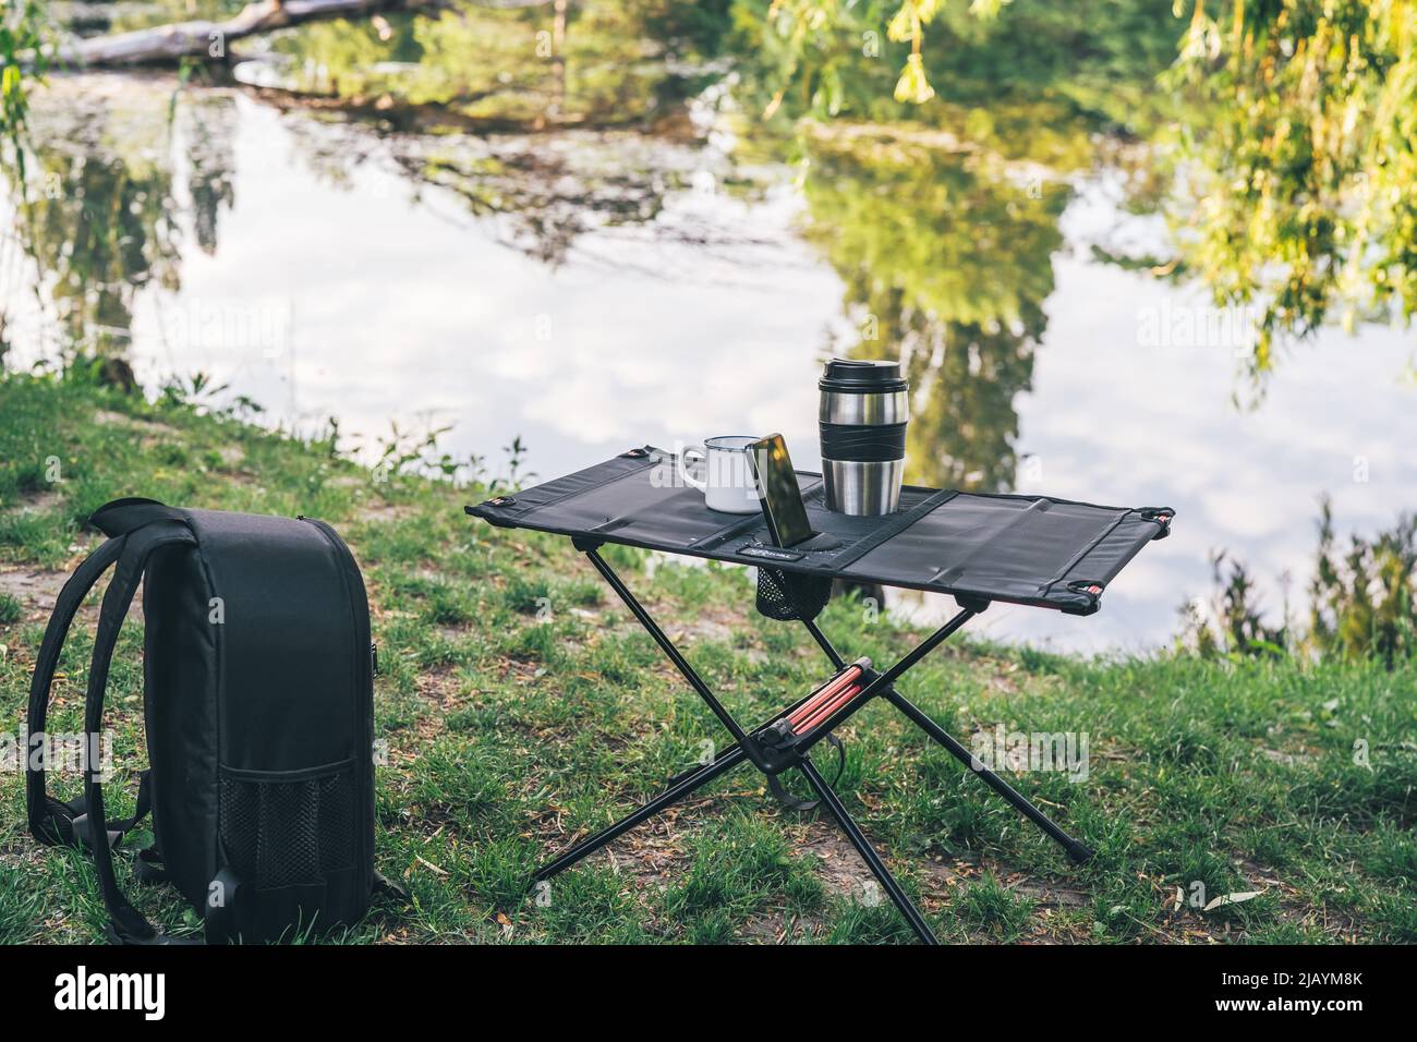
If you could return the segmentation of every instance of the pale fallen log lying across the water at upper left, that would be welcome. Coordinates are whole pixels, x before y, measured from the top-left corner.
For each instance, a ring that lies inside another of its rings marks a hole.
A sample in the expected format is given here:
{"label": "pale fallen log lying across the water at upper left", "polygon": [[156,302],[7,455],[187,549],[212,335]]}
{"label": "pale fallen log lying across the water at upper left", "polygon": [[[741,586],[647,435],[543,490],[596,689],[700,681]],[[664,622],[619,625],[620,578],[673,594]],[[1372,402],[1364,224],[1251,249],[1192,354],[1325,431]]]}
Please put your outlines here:
{"label": "pale fallen log lying across the water at upper left", "polygon": [[52,48],[52,65],[98,68],[103,65],[145,65],[173,62],[180,58],[227,57],[227,47],[241,40],[278,28],[333,18],[361,18],[390,11],[439,11],[446,0],[258,0],[225,21],[180,21],[139,28],[132,33],[72,40]]}

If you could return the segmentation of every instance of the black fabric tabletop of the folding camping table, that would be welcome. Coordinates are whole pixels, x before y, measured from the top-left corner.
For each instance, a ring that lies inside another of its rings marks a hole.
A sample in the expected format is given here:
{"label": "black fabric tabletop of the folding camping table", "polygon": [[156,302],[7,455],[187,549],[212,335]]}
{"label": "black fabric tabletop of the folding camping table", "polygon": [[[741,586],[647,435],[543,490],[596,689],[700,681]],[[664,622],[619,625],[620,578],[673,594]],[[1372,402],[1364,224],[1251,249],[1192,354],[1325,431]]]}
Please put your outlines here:
{"label": "black fabric tabletop of the folding camping table", "polygon": [[798,483],[822,536],[785,550],[761,515],[704,506],[677,481],[673,454],[649,445],[466,509],[502,527],[1076,615],[1097,611],[1107,584],[1175,516],[1165,506],[905,486],[896,513],[849,517],[826,509],[819,474],[799,471]]}

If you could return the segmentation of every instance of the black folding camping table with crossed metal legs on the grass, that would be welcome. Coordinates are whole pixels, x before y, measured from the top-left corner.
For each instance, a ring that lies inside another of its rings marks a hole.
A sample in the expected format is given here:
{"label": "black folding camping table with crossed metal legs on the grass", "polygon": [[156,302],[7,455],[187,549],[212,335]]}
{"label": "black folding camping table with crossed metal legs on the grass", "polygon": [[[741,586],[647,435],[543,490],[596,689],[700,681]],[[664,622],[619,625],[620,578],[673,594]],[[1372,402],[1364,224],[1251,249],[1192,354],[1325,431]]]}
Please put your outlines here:
{"label": "black folding camping table with crossed metal legs on the grass", "polygon": [[[832,732],[877,696],[896,706],[1061,844],[1074,862],[1081,863],[1091,856],[1087,846],[972,757],[894,685],[907,669],[992,601],[1029,604],[1073,615],[1093,614],[1108,583],[1142,544],[1169,533],[1175,516],[1170,508],[1127,509],[1046,496],[905,486],[896,513],[849,517],[826,509],[820,475],[799,471],[798,483],[808,517],[819,534],[805,544],[782,549],[771,544],[760,515],[727,515],[706,508],[703,493],[677,479],[676,464],[673,454],[646,445],[544,485],[466,508],[469,515],[502,527],[568,536],[733,736],[733,746],[711,763],[672,780],[659,797],[538,869],[534,883],[570,868],[748,760],[767,775],[774,791],[781,791],[778,774],[791,768],[801,771],[915,934],[925,943],[934,943],[925,919],[811,757],[818,743],[835,743]],[[744,729],[606,564],[599,554],[605,543],[757,566],[760,610],[775,618],[803,622],[836,675],[764,724]],[[847,662],[816,625],[816,612],[826,601],[832,580],[951,594],[959,611],[898,662],[879,672],[867,659]],[[774,607],[771,603],[764,604],[765,584],[769,591],[777,591],[777,612],[769,611]],[[782,600],[788,603],[785,611]],[[853,689],[854,693],[846,693]]]}

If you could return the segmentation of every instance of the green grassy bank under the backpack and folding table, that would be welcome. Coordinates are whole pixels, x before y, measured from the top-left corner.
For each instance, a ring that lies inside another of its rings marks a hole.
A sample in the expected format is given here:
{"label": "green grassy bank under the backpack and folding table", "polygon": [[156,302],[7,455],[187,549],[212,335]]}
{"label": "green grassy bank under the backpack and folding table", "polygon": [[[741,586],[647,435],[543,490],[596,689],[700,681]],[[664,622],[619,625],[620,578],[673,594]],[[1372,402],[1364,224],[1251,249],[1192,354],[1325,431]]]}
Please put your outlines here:
{"label": "green grassy bank under the backpack and folding table", "polygon": [[[57,584],[96,542],[84,519],[122,495],[320,516],[360,559],[384,668],[378,865],[411,903],[380,904],[337,940],[911,940],[840,836],[779,808],[747,767],[523,896],[537,863],[726,736],[565,540],[463,516],[480,489],[380,483],[326,442],[81,384],[0,380],[0,573],[51,570]],[[741,717],[822,678],[801,628],[752,612],[745,571],[660,561],[648,577],[643,554],[606,556]],[[890,618],[867,624],[852,600],[820,622],[877,662],[920,637]],[[11,730],[41,632],[37,604],[0,597]],[[143,763],[140,644],[125,627],[109,695],[129,778]],[[91,646],[84,628],[65,646],[51,730],[81,730]],[[890,706],[842,730],[842,798],[947,940],[1417,940],[1410,663],[1084,661],[966,639],[901,686],[966,744],[996,724],[1090,739],[1084,781],[1009,774],[1094,848],[1078,868]],[[58,784],[77,791],[75,777]],[[17,771],[0,774],[0,941],[98,940],[94,873],[74,851],[37,846],[23,788]],[[118,783],[111,792],[123,807]],[[122,879],[128,865],[120,855]],[[1190,902],[1247,890],[1261,896],[1212,912]],[[133,893],[154,920],[196,929],[169,892]]]}

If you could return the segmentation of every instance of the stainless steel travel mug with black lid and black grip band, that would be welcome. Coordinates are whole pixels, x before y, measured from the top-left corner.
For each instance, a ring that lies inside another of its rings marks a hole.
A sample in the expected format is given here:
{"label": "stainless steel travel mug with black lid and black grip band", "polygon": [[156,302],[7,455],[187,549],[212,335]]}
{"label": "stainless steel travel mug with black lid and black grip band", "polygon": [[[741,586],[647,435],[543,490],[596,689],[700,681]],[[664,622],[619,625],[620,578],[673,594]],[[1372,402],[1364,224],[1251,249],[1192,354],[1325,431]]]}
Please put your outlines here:
{"label": "stainless steel travel mug with black lid and black grip band", "polygon": [[859,517],[893,513],[910,422],[910,381],[900,363],[832,359],[818,387],[828,509]]}

